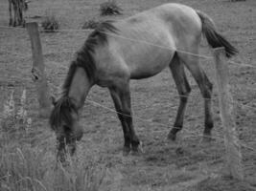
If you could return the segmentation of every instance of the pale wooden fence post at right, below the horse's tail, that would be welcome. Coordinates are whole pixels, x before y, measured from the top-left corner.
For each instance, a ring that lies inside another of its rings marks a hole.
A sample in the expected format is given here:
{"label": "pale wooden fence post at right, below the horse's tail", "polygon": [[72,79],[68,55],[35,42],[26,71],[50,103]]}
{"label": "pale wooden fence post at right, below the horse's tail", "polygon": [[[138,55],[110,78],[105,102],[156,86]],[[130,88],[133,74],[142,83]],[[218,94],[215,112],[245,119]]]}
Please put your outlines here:
{"label": "pale wooden fence post at right, below the horse's tail", "polygon": [[233,98],[230,94],[229,71],[224,48],[214,49],[216,78],[219,92],[221,122],[223,125],[228,176],[243,180],[242,155],[234,120]]}

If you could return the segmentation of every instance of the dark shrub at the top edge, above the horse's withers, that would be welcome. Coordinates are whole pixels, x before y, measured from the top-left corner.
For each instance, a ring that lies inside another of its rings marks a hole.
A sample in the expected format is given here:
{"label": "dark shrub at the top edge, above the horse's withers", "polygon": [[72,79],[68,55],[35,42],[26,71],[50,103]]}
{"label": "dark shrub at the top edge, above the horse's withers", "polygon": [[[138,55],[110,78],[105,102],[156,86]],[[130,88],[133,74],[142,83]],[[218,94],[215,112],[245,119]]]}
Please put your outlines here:
{"label": "dark shrub at the top edge, above the horse's withers", "polygon": [[121,14],[122,9],[117,5],[115,0],[108,0],[101,4],[101,15]]}

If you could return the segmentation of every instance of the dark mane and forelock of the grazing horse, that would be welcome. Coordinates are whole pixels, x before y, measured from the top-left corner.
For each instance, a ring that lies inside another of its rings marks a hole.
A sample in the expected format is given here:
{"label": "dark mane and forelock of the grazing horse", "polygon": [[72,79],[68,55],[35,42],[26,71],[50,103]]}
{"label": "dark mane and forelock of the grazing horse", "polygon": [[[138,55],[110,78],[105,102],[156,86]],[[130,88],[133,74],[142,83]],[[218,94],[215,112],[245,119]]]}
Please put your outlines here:
{"label": "dark mane and forelock of the grazing horse", "polygon": [[78,67],[83,68],[88,75],[89,80],[94,80],[96,67],[93,53],[95,52],[95,48],[97,46],[107,43],[107,33],[111,32],[117,32],[117,29],[113,26],[112,22],[103,22],[96,30],[89,34],[85,43],[81,47],[81,50],[77,52],[76,58],[70,64],[68,74],[62,86],[61,97],[58,99],[50,116],[50,125],[52,129],[55,130],[60,125],[61,121],[63,121],[69,127],[72,126],[73,119],[71,116],[71,111],[73,110],[77,112],[77,108],[72,102],[72,99],[68,97],[68,93],[72,79],[76,73],[76,69]]}

